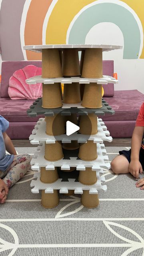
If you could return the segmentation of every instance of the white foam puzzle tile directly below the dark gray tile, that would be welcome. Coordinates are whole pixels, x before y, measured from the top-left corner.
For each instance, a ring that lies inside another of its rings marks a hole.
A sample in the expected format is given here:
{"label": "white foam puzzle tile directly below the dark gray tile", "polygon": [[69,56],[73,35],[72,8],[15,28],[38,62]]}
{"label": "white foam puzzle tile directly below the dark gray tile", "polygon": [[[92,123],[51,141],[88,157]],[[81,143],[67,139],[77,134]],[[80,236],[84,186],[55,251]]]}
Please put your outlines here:
{"label": "white foam puzzle tile directly below the dark gray tile", "polygon": [[75,132],[70,136],[62,134],[59,136],[50,136],[46,134],[46,122],[44,118],[40,118],[37,122],[32,134],[29,137],[31,144],[39,144],[40,142],[55,143],[56,140],[62,141],[62,143],[71,143],[72,140],[77,140],[78,143],[85,143],[87,140],[93,140],[94,143],[103,143],[103,141],[112,142],[110,132],[107,131],[106,126],[102,119],[98,119],[98,133],[94,135],[84,135]]}

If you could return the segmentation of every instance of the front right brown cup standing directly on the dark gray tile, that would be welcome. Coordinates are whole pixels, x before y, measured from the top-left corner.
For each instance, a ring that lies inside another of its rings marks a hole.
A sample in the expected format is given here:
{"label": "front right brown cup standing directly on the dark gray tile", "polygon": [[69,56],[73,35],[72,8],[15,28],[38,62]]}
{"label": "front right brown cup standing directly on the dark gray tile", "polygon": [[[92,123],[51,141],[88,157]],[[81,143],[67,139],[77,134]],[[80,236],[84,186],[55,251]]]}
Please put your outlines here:
{"label": "front right brown cup standing directly on the dark gray tile", "polygon": [[82,106],[85,108],[102,108],[102,84],[85,84]]}

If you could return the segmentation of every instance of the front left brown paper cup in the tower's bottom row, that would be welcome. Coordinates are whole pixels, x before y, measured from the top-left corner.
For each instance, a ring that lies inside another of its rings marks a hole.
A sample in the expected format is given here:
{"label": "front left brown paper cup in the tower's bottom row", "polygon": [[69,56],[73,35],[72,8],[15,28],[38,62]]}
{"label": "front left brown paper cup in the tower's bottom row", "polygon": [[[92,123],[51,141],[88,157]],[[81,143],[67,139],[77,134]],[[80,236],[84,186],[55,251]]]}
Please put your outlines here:
{"label": "front left brown paper cup in the tower's bottom row", "polygon": [[42,190],[42,206],[44,208],[54,208],[59,204],[58,190],[54,190],[54,193],[45,193],[45,190]]}

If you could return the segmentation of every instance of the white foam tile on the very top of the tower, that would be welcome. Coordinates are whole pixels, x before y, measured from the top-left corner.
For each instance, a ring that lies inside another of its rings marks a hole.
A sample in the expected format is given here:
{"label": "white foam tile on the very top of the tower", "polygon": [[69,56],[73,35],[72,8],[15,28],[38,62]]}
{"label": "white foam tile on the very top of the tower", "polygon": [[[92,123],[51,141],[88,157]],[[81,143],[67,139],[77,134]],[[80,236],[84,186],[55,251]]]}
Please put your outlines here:
{"label": "white foam tile on the very top of the tower", "polygon": [[24,50],[30,50],[33,52],[42,52],[42,49],[78,49],[85,50],[88,48],[102,48],[103,52],[122,49],[122,45],[112,44],[43,44],[43,45],[26,45],[23,47]]}

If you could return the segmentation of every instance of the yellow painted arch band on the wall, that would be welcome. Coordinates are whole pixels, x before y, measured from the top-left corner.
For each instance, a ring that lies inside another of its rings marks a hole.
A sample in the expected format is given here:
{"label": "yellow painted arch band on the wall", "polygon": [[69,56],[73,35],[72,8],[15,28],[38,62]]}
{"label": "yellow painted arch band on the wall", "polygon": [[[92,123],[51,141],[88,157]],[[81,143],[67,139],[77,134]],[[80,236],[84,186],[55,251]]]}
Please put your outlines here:
{"label": "yellow painted arch band on the wall", "polygon": [[[95,0],[58,0],[46,28],[46,44],[66,44],[66,34],[70,22],[74,16],[86,5],[95,2]],[[144,32],[144,0],[122,0],[128,4],[138,15]],[[144,47],[140,58],[144,58]]]}

